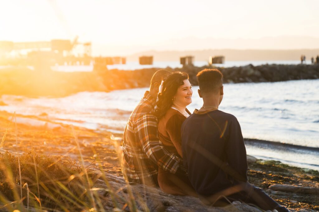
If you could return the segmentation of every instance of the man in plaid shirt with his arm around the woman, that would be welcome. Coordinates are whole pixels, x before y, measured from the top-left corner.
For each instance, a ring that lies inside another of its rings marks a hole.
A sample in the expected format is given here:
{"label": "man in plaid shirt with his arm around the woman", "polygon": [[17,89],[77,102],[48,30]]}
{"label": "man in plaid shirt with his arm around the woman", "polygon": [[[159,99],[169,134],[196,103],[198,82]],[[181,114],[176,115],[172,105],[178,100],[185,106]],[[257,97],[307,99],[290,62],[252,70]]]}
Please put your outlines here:
{"label": "man in plaid shirt with his arm around the woman", "polygon": [[124,131],[122,173],[126,181],[158,186],[158,168],[173,174],[186,174],[182,159],[159,141],[157,118],[153,115],[159,85],[170,72],[159,70],[151,79],[150,90],[131,113]]}

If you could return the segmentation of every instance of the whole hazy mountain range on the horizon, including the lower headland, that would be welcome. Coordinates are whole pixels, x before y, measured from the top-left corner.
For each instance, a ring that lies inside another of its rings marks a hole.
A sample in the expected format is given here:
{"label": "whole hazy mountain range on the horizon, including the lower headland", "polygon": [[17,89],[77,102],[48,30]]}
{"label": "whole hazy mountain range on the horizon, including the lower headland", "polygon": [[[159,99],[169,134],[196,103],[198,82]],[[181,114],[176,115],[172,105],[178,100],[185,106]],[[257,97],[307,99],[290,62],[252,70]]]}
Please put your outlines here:
{"label": "whole hazy mountain range on the horizon, including the lower headland", "polygon": [[[216,33],[218,34],[218,33]],[[107,41],[106,41],[107,42]],[[136,53],[138,52],[138,53]],[[208,60],[209,56],[224,55],[226,60],[307,60],[319,54],[319,38],[311,36],[277,36],[252,38],[175,38],[148,44],[96,44],[94,56],[126,56],[137,61],[141,55],[153,55],[155,61],[175,61],[181,56],[194,55],[195,60]]]}

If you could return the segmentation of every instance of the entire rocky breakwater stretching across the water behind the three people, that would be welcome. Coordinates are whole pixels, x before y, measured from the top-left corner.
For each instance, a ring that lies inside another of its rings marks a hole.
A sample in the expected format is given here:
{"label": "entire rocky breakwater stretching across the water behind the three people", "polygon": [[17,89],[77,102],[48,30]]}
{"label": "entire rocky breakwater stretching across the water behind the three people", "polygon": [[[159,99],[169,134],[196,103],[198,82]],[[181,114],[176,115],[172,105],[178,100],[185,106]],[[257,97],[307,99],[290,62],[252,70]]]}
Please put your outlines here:
{"label": "entire rocky breakwater stretching across the water behind the three people", "polygon": [[[214,66],[183,66],[166,70],[189,73],[189,81],[197,85],[196,75],[205,68]],[[1,70],[0,95],[62,97],[77,92],[108,92],[117,89],[147,87],[152,75],[160,68],[133,71],[107,70],[93,72],[54,72],[50,69],[33,71],[15,67]],[[296,79],[319,79],[319,65],[260,65],[218,68],[224,75],[225,83],[276,82]]]}

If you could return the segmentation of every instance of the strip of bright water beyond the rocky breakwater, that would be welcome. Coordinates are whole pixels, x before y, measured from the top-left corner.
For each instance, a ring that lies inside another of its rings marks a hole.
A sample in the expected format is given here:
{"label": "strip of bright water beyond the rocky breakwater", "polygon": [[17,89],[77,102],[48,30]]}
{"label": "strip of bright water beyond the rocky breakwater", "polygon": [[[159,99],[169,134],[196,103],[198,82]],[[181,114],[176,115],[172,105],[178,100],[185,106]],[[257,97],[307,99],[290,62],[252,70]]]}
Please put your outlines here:
{"label": "strip of bright water beyond the rocky breakwater", "polygon": [[[252,64],[256,65],[264,65],[264,64],[300,64],[299,60],[260,60],[260,61],[225,61],[224,64],[214,64],[217,67],[233,67],[233,66],[244,66]],[[306,64],[311,64],[310,61],[306,61]],[[195,61],[195,66],[202,67],[204,65],[208,65],[208,61]],[[127,62],[127,64],[122,65],[107,65],[108,69],[118,69],[118,70],[137,70],[143,68],[166,68],[167,66],[171,68],[182,68],[182,65],[179,61],[154,61],[153,65],[139,65],[138,62]],[[52,70],[59,72],[91,72],[93,70],[93,65],[60,65],[60,66],[52,66]],[[1,69],[1,66],[0,66]]]}

